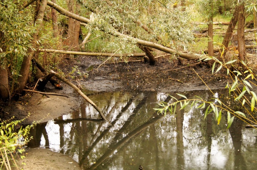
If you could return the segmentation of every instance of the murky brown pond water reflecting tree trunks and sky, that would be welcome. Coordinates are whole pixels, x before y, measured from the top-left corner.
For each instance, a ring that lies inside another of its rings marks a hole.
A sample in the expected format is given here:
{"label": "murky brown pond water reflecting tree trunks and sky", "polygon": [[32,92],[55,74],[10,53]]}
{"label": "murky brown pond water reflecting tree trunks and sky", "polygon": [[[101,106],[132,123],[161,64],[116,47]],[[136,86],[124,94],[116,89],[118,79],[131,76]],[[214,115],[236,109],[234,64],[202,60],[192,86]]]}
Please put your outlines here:
{"label": "murky brown pond water reflecting tree trunks and sky", "polygon": [[[187,97],[213,97],[190,91]],[[220,95],[217,92],[216,95]],[[176,95],[175,95],[176,96]],[[156,92],[106,92],[89,96],[110,123],[99,121],[93,107],[37,125],[30,147],[46,147],[71,156],[83,169],[255,169],[257,131],[226,118],[217,125],[205,110],[186,107],[176,115],[158,115],[160,101],[173,99]],[[179,96],[176,96],[179,98]]]}

